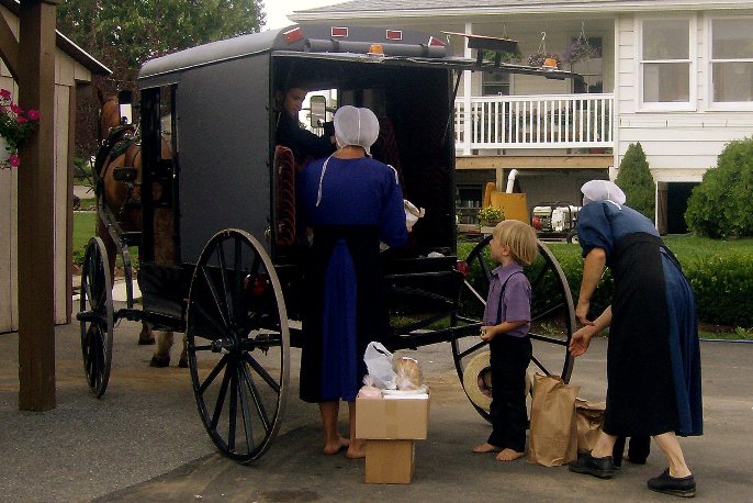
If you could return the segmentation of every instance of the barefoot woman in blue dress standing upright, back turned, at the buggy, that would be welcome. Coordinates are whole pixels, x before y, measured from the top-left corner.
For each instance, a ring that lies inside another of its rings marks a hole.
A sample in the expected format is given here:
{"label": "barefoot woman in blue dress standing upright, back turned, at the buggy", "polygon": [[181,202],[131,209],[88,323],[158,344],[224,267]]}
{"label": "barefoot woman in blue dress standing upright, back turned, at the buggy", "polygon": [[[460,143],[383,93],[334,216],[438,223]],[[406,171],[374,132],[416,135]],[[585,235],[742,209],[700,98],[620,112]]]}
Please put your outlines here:
{"label": "barefoot woman in blue dress standing upright, back turned, at the buggy", "polygon": [[[379,122],[369,109],[341,107],[335,114],[339,149],[312,161],[297,178],[303,223],[313,230],[306,267],[301,355],[301,399],[319,404],[324,452],[347,447],[363,457],[356,440],[356,394],[367,373],[363,353],[389,334],[380,242],[407,241],[403,192],[396,171],[370,158]],[[349,438],[339,435],[340,400],[348,402]]]}

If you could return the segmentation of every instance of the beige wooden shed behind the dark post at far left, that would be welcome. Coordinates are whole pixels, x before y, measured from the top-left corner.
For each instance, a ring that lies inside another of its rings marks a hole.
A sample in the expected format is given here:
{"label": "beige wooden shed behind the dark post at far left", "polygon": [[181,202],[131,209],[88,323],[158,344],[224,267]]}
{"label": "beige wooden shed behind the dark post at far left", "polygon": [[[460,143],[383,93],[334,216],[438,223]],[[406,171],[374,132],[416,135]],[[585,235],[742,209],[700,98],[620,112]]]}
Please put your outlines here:
{"label": "beige wooden shed behind the dark post at far left", "polygon": [[[19,36],[19,3],[0,0],[0,22]],[[4,31],[3,31],[4,33]],[[110,70],[80,47],[56,33],[55,56],[55,323],[68,323],[71,313],[72,157],[76,94],[94,75]],[[1,48],[1,47],[0,47]],[[0,88],[18,102],[19,89],[0,62]],[[44,120],[44,118],[42,118]],[[22,165],[18,169],[24,169]],[[0,170],[0,333],[19,327],[18,298],[18,174]]]}

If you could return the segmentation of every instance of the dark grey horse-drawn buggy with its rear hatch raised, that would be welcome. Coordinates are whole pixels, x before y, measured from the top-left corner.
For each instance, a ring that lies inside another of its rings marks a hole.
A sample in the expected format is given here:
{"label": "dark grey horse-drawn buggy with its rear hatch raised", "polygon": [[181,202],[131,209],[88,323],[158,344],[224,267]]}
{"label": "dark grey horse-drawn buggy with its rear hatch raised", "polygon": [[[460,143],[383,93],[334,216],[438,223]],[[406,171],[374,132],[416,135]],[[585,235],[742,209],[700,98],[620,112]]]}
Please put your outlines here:
{"label": "dark grey horse-drawn buggy with its rear hatch raised", "polygon": [[[212,441],[239,462],[269,448],[290,394],[291,347],[306,336],[301,286],[308,247],[296,226],[299,160],[276,145],[276,91],[292,83],[336,90],[329,110],[370,108],[381,130],[373,157],[395,168],[404,197],[425,210],[408,244],[382,253],[391,314],[383,343],[391,350],[450,343],[467,392],[477,385],[467,371],[486,350],[479,328],[494,266],[490,237],[458,261],[453,103],[462,71],[572,74],[502,63],[502,52],[516,48],[513,41],[469,42],[476,59],[452,56],[441,37],[420,32],[301,24],[146,63],[138,77],[142,166],[115,177],[141,188],[143,299],[141,308],[130,301],[115,310],[110,252],[93,238],[78,314],[93,394],[106,389],[119,320],[184,333],[199,415]],[[533,362],[567,381],[572,297],[554,257],[541,244],[539,253],[526,270],[533,289]],[[487,417],[473,395],[472,405]]]}

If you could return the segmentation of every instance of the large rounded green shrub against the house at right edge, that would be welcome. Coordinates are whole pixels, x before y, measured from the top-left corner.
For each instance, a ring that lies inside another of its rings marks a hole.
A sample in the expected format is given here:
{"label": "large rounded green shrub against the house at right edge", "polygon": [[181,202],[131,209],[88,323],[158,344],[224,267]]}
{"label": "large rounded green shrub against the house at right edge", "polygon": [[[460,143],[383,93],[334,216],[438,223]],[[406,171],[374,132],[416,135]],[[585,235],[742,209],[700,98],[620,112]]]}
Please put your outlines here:
{"label": "large rounded green shrub against the house at right edge", "polygon": [[753,138],[729,143],[693,189],[685,222],[712,238],[753,236]]}

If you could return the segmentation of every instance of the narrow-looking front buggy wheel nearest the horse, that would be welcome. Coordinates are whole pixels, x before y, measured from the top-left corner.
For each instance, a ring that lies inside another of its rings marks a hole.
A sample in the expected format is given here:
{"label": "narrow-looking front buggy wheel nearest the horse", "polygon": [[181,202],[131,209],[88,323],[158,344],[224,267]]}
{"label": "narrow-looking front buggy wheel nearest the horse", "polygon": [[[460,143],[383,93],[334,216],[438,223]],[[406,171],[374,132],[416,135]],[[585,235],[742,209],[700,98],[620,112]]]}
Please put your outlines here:
{"label": "narrow-looking front buggy wheel nearest the horse", "polygon": [[112,365],[114,312],[108,252],[99,237],[89,239],[81,271],[81,297],[76,315],[81,323],[83,371],[91,393],[100,398],[108,389]]}

